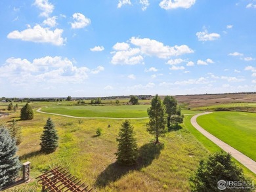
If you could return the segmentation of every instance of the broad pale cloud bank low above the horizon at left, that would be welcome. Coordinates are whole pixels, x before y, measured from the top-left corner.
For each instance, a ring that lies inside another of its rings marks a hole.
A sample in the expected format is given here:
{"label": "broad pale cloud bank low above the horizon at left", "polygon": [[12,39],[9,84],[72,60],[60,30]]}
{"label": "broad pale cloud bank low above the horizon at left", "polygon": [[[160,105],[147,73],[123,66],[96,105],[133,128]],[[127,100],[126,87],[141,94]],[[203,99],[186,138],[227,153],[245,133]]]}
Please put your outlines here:
{"label": "broad pale cloud bank low above the horizon at left", "polygon": [[21,58],[9,58],[0,67],[0,79],[7,79],[11,83],[83,83],[88,79],[88,73],[98,73],[104,67],[96,69],[77,67],[68,58],[60,56],[45,56],[36,58],[32,62]]}

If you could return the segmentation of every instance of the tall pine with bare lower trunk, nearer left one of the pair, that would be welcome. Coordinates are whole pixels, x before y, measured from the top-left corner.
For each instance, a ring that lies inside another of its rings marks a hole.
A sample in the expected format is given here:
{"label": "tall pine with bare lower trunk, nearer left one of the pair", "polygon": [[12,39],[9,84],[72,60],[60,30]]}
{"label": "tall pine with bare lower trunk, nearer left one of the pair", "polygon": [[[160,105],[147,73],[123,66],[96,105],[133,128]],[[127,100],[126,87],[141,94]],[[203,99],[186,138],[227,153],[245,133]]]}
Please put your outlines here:
{"label": "tall pine with bare lower trunk, nearer left one of the pair", "polygon": [[147,123],[146,130],[150,132],[150,134],[154,134],[156,136],[156,144],[159,143],[158,137],[163,136],[165,132],[167,132],[165,124],[166,124],[166,113],[165,106],[160,100],[158,94],[152,99],[151,107],[148,109],[148,115],[150,118],[149,123]]}

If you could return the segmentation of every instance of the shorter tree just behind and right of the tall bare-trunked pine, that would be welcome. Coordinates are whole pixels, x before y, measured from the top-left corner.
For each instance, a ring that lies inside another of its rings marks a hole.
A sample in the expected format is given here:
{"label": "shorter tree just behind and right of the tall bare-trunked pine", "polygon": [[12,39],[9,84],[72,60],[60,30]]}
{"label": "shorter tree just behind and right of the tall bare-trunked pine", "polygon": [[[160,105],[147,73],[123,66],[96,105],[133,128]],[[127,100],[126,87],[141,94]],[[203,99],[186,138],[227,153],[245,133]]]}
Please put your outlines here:
{"label": "shorter tree just behind and right of the tall bare-trunked pine", "polygon": [[163,104],[167,113],[167,127],[178,125],[183,122],[183,115],[181,115],[181,107],[177,106],[177,100],[173,96],[165,96]]}

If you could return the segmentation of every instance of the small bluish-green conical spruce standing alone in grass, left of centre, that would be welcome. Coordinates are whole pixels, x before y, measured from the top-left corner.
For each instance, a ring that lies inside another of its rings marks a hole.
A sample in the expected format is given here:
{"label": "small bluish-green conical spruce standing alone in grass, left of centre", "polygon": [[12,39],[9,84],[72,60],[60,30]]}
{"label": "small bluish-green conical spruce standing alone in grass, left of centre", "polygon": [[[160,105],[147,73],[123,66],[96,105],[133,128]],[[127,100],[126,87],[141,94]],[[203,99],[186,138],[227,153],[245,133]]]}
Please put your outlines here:
{"label": "small bluish-green conical spruce standing alone in grass, left of centre", "polygon": [[49,117],[47,123],[43,128],[43,134],[41,136],[41,151],[45,153],[51,153],[58,147],[58,135],[54,128],[53,121]]}

